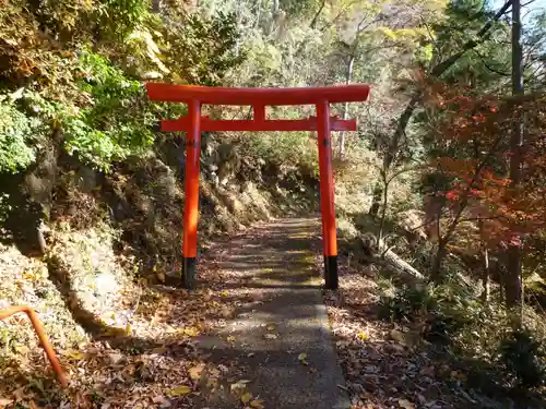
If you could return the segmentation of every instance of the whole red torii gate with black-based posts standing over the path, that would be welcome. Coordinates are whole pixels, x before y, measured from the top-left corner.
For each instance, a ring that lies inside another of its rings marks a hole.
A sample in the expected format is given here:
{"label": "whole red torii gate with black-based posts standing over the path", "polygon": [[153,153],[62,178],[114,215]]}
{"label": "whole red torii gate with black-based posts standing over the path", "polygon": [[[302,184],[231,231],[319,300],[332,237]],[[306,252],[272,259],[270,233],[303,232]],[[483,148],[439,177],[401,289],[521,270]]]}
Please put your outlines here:
{"label": "whole red torii gate with black-based posts standing over the path", "polygon": [[[365,101],[369,86],[361,84],[319,88],[222,88],[193,85],[147,83],[151,100],[185,103],[188,116],[163,120],[162,131],[185,131],[186,201],[183,205],[182,285],[192,288],[195,279],[199,156],[202,131],[317,131],[319,144],[320,207],[325,288],[337,288],[337,238],[335,230],[334,181],[332,173],[331,131],[356,131],[356,120],[330,117],[330,104]],[[201,117],[202,105],[252,106],[252,120],[211,120]],[[317,117],[309,119],[265,119],[265,107],[314,105]]]}

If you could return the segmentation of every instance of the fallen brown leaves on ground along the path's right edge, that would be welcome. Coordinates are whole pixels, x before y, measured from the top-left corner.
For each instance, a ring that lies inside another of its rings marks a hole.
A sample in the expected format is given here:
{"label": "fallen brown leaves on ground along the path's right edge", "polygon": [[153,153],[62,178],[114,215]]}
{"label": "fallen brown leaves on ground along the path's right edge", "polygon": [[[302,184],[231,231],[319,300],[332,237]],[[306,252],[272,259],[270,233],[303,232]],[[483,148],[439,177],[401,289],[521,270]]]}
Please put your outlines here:
{"label": "fallen brown leaves on ground along the path's right edge", "polygon": [[[316,257],[317,268],[322,258]],[[324,291],[324,302],[346,375],[352,409],[466,409],[506,407],[465,386],[464,368],[452,369],[415,344],[412,328],[378,317],[378,288],[372,277],[340,260],[340,289]],[[418,338],[418,337],[417,337]],[[453,382],[455,381],[455,382]],[[502,400],[505,399],[505,400]]]}

